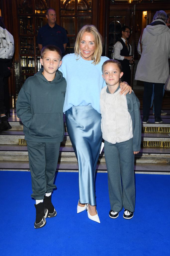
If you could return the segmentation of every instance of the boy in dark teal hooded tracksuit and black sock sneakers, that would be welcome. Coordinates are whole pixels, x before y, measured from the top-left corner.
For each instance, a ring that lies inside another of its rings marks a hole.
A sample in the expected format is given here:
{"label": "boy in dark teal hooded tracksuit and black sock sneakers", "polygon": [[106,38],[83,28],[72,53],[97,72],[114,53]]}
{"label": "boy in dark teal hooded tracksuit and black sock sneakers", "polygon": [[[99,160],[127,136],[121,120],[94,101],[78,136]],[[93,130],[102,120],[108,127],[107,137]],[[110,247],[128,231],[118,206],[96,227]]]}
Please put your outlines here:
{"label": "boy in dark teal hooded tracksuit and black sock sneakers", "polygon": [[43,68],[23,84],[16,103],[27,140],[32,180],[32,198],[35,199],[34,228],[42,228],[46,217],[57,212],[51,202],[60,142],[64,137],[63,105],[66,80],[58,71],[62,64],[61,50],[47,45],[41,50]]}

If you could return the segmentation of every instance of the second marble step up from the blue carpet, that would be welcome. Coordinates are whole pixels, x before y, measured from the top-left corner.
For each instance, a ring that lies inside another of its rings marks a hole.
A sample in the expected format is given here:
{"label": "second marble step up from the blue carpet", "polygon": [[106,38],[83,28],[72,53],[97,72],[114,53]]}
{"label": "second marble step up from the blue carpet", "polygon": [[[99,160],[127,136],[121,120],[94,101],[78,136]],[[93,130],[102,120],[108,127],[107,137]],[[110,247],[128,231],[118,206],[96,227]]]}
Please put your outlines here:
{"label": "second marble step up from the blue carpet", "polygon": [[[0,161],[28,161],[26,145],[0,145]],[[70,145],[60,147],[60,162],[77,162],[73,147]],[[98,162],[105,163],[104,152],[99,156]],[[136,163],[170,163],[170,148],[141,148],[135,155]]]}

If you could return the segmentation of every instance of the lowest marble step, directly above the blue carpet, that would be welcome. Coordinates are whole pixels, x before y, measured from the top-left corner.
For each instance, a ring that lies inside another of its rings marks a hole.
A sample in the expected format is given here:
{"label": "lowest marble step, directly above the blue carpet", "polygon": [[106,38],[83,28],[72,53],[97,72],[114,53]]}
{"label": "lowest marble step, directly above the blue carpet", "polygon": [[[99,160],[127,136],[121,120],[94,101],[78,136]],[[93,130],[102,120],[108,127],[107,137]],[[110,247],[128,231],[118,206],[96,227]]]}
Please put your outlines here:
{"label": "lowest marble step, directly above the blue carpet", "polygon": [[[10,171],[30,171],[28,161],[0,161],[0,170]],[[57,164],[56,171],[59,172],[78,172],[78,163],[60,162]],[[98,163],[97,172],[107,172],[105,163]],[[134,166],[135,173],[145,174],[170,174],[170,169],[167,164],[144,164],[136,163]]]}

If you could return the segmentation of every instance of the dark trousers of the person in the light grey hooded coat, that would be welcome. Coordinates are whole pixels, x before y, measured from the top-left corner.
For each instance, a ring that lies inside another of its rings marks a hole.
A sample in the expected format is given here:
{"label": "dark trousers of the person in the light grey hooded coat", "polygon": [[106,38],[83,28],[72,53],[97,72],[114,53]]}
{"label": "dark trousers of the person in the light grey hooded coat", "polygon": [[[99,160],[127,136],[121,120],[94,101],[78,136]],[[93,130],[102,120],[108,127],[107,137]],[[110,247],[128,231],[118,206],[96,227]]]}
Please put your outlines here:
{"label": "dark trousers of the person in the light grey hooded coat", "polygon": [[149,82],[144,82],[143,116],[149,117],[153,85],[154,85],[155,117],[161,117],[164,84],[163,83],[149,83]]}

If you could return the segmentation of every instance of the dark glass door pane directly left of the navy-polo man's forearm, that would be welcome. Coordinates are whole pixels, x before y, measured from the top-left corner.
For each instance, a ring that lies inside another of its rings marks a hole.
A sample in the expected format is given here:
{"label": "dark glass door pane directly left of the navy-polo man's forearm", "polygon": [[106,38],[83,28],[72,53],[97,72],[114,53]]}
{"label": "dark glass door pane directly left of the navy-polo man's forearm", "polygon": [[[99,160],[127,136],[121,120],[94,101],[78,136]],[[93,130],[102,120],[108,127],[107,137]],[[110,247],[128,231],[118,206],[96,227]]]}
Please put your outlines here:
{"label": "dark glass door pane directly left of the navy-polo man's forearm", "polygon": [[34,54],[33,37],[20,37],[20,54]]}

